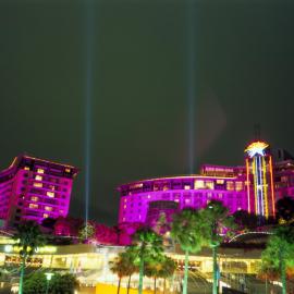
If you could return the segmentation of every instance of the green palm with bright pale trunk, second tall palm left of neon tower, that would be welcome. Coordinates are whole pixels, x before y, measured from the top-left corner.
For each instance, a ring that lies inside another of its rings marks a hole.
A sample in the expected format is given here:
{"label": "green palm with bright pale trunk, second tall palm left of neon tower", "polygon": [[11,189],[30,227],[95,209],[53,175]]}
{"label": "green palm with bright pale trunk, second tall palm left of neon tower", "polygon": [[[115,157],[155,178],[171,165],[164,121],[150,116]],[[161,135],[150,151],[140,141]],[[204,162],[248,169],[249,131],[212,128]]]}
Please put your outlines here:
{"label": "green palm with bright pale trunk, second tall palm left of neon tower", "polygon": [[199,252],[203,246],[203,234],[200,234],[199,212],[194,209],[183,209],[173,216],[171,236],[185,252],[185,269],[183,294],[187,293],[188,256],[189,253]]}

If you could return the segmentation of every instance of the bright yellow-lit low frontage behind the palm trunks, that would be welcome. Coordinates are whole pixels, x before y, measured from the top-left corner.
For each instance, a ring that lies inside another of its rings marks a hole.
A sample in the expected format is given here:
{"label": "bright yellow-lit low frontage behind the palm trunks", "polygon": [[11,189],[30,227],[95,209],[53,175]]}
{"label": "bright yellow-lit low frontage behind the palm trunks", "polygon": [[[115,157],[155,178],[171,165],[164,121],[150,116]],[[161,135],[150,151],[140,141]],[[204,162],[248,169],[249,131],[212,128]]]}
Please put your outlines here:
{"label": "bright yellow-lit low frontage behind the palm trunks", "polygon": [[[2,240],[0,245],[0,269],[3,286],[17,283],[17,267],[20,258],[17,248]],[[5,244],[7,243],[7,244]],[[27,271],[64,271],[76,275],[81,283],[77,293],[117,293],[118,278],[110,271],[109,261],[113,260],[123,247],[94,246],[94,245],[66,245],[46,246],[36,253],[27,265]],[[167,254],[176,260],[177,271],[171,279],[158,279],[157,293],[180,293],[184,256],[181,252],[169,250]],[[261,249],[258,248],[221,248],[218,264],[220,268],[220,293],[269,293],[280,294],[281,286],[278,282],[261,281],[256,278],[260,265]],[[189,258],[188,293],[211,293],[211,252],[203,250]],[[5,272],[8,277],[5,277]],[[138,277],[134,274],[131,280],[130,294],[137,293]],[[127,285],[127,278],[122,280],[122,289]],[[146,293],[154,293],[154,279],[145,278]],[[294,292],[293,283],[289,283],[289,293]],[[0,292],[1,293],[1,292]],[[8,293],[8,292],[3,292]],[[122,290],[121,294],[126,293]]]}

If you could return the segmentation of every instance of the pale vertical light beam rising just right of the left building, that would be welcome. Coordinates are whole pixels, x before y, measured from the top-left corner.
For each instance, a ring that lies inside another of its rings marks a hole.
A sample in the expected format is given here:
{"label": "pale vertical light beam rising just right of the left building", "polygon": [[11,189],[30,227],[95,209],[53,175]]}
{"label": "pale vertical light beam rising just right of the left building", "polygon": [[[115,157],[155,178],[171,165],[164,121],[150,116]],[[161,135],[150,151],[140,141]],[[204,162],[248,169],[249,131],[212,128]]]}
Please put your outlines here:
{"label": "pale vertical light beam rising just right of the left building", "polygon": [[[93,46],[94,8],[93,1],[85,2],[85,222],[89,218],[90,170],[91,170],[91,100],[93,100]],[[87,230],[86,230],[87,231]]]}

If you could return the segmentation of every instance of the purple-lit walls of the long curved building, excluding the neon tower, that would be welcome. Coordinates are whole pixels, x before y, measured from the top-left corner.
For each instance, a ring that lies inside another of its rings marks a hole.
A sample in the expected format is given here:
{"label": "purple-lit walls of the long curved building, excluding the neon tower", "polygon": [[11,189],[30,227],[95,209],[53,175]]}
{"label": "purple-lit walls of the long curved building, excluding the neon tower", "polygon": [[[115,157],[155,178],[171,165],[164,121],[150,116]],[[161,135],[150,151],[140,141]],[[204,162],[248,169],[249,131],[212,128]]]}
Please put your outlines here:
{"label": "purple-lit walls of the long curved building, excluding the neon tower", "polygon": [[[273,200],[294,198],[294,160],[273,161]],[[159,177],[121,185],[119,223],[145,223],[150,201],[175,201],[179,209],[204,208],[210,200],[223,203],[233,213],[249,211],[246,167],[203,166],[199,175]],[[252,211],[253,212],[253,211]]]}

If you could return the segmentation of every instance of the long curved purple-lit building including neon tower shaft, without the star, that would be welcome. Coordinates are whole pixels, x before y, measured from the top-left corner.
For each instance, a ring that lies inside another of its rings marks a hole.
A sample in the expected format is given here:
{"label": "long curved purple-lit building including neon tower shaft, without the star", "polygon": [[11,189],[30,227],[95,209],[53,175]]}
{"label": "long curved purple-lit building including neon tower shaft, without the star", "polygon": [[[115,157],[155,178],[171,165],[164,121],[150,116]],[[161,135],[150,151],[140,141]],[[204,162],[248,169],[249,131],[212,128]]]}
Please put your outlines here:
{"label": "long curved purple-lit building including neon tower shaft, without the star", "polygon": [[264,161],[260,158],[254,161],[260,160],[265,168],[265,171],[258,171],[264,172],[260,180],[255,177],[256,169],[253,168],[256,166],[252,164],[255,155],[247,155],[241,167],[205,164],[199,175],[159,177],[121,185],[119,223],[145,223],[151,201],[175,201],[181,210],[204,208],[216,199],[222,201],[231,213],[246,210],[266,218],[274,217],[277,200],[283,196],[294,198],[294,159],[282,149],[277,156],[270,156],[267,149]]}

